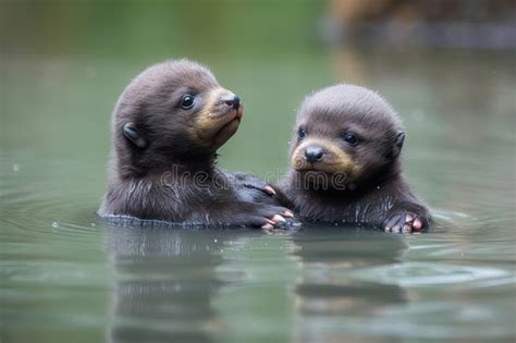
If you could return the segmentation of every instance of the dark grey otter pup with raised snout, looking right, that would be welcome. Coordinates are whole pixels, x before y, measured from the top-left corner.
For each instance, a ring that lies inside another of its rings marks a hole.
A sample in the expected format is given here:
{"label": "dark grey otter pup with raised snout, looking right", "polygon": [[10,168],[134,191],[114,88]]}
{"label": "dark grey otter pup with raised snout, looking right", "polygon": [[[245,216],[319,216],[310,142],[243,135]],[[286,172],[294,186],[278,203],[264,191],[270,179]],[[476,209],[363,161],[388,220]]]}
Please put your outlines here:
{"label": "dark grey otter pup with raised snout, looking right", "polygon": [[244,185],[245,175],[216,168],[217,149],[242,117],[238,97],[205,66],[176,60],[145,70],[113,112],[111,166],[99,216],[265,229],[292,217],[274,201],[255,201],[257,189]]}

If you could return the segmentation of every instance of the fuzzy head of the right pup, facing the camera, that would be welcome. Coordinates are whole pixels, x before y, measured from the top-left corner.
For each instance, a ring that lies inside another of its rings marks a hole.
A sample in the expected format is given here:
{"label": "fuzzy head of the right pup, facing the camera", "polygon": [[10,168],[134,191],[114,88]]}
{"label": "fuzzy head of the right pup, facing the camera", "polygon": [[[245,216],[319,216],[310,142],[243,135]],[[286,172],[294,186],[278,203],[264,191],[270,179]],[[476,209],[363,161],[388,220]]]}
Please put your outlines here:
{"label": "fuzzy head of the right pup, facing the camera", "polygon": [[392,173],[404,138],[397,115],[379,95],[336,85],[303,102],[291,140],[291,167],[304,187],[345,189]]}

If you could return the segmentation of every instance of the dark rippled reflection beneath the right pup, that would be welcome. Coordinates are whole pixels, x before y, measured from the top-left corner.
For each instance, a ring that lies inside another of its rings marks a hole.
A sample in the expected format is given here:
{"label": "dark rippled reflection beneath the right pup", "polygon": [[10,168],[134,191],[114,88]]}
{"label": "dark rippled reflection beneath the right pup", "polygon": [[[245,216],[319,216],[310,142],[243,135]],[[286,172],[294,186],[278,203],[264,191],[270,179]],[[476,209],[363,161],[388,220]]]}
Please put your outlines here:
{"label": "dark rippled reflection beneath the right pup", "polygon": [[[294,235],[293,242],[303,267],[295,291],[299,314],[296,341],[342,342],[345,329],[346,342],[370,342],[364,332],[354,338],[348,322],[407,302],[404,289],[395,284],[348,277],[355,270],[398,262],[407,249],[403,238],[317,228],[316,232]],[[385,338],[381,341],[390,342]]]}

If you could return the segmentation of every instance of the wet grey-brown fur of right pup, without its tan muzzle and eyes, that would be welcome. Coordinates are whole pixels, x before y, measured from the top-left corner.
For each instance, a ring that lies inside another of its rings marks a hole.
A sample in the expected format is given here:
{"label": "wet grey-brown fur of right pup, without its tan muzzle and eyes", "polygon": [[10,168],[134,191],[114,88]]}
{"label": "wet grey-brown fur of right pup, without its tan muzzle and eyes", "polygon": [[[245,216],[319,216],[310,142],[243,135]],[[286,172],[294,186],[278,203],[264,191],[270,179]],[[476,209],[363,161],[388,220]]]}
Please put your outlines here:
{"label": "wet grey-brown fur of right pup, without its tan muzzle and eyes", "polygon": [[[291,154],[300,144],[299,126],[306,127],[307,137],[339,146],[359,167],[359,174],[349,181],[346,189],[307,187],[304,174],[291,169],[280,188],[287,197],[284,204],[302,219],[382,228],[396,216],[414,212],[428,226],[430,213],[402,173],[403,139],[397,144],[401,122],[379,95],[358,86],[337,85],[309,96],[298,112]],[[340,140],[339,130],[353,130],[364,142],[348,147]]]}

